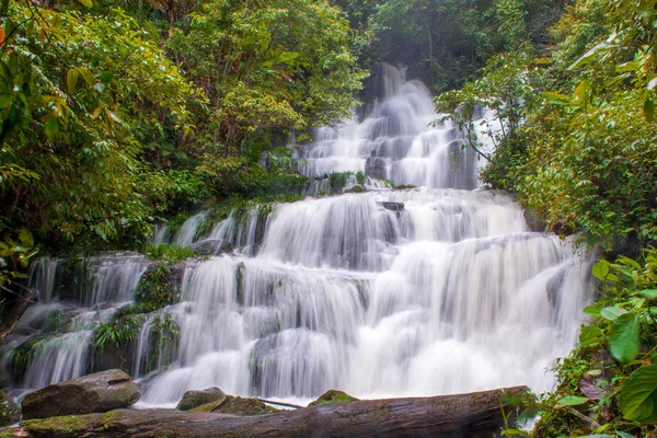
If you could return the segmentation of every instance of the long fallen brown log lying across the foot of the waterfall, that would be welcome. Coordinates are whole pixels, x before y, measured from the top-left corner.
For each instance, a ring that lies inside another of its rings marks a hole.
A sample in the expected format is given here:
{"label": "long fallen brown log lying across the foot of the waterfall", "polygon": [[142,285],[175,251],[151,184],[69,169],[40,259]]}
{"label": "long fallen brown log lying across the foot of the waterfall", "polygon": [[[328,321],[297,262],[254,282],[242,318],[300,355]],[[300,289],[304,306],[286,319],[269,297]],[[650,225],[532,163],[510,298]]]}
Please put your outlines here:
{"label": "long fallen brown log lying across the foot of the waterfall", "polygon": [[505,395],[527,388],[435,397],[364,400],[241,417],[172,410],[118,410],[106,414],[34,419],[10,433],[24,437],[442,437],[499,433]]}

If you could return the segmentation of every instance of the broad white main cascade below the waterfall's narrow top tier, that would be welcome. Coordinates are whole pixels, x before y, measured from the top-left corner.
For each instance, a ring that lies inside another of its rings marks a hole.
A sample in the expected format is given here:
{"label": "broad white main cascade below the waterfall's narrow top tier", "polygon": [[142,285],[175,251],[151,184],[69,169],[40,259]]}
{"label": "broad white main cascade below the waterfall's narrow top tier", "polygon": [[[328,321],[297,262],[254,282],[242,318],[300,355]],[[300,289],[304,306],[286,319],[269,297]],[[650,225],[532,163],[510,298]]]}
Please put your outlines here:
{"label": "broad white main cascade below the waterfall's narrow top tier", "polygon": [[[383,207],[401,199],[399,216]],[[142,400],[175,403],[208,385],[295,399],[545,389],[545,370],[576,341],[585,270],[565,243],[527,231],[500,194],[280,205],[256,257],[191,273],[180,361]]]}

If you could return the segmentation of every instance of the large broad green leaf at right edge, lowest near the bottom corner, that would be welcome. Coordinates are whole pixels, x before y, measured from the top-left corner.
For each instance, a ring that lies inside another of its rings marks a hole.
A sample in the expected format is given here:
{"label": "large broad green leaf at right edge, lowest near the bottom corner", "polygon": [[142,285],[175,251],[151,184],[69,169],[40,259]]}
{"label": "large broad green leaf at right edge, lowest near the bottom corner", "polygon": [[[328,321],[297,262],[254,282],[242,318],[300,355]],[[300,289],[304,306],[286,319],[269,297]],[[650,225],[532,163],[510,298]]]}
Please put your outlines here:
{"label": "large broad green leaf at right edge, lowest near the bottom corner", "polygon": [[627,419],[657,420],[657,365],[637,369],[621,387],[621,411]]}

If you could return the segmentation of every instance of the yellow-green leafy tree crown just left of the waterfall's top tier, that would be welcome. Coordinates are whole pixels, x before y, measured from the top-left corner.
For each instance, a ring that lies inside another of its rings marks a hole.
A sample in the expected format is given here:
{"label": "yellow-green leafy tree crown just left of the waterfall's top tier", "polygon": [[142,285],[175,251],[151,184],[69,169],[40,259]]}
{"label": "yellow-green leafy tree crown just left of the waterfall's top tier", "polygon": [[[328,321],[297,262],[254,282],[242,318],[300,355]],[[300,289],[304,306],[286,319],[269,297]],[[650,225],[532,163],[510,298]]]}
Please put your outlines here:
{"label": "yellow-green leafy tree crown just left of the waterfall's top tier", "polygon": [[347,115],[364,77],[348,32],[322,0],[200,2],[168,48],[210,100],[200,127],[208,151],[220,142],[233,155],[276,129]]}

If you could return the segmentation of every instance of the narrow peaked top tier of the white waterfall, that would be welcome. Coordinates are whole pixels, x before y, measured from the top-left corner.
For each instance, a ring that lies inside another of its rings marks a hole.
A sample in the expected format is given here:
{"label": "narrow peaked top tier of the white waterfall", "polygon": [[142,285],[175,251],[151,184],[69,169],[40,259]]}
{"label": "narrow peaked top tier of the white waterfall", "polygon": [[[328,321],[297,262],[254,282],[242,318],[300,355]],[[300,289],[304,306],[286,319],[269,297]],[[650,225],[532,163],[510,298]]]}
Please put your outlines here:
{"label": "narrow peaked top tier of the white waterfall", "polygon": [[440,116],[431,94],[419,81],[406,81],[403,70],[383,65],[381,97],[362,120],[320,128],[315,142],[299,151],[299,170],[307,176],[365,171],[396,184],[474,188],[476,157],[463,149],[462,136]]}

